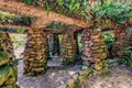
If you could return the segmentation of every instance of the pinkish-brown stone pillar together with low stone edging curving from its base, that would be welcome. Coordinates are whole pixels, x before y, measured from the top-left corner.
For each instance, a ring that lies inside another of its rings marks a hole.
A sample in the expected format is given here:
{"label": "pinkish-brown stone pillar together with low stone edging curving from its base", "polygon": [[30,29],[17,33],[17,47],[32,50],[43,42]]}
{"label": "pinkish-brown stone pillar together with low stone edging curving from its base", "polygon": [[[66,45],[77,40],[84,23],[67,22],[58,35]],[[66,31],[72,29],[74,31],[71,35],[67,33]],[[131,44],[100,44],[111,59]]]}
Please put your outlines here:
{"label": "pinkish-brown stone pillar together with low stone edging curving from its base", "polygon": [[100,72],[108,73],[108,66],[103,62],[107,57],[107,47],[100,29],[87,28],[82,32],[82,61],[80,70],[57,88],[81,88],[81,84]]}

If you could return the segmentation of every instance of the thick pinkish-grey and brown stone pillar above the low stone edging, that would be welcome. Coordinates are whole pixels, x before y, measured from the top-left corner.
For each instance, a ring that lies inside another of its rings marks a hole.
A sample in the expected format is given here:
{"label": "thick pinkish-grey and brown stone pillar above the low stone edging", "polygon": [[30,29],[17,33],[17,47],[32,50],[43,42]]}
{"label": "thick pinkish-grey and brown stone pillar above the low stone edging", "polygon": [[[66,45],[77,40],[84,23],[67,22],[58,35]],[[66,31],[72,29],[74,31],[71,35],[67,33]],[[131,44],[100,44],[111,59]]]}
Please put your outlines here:
{"label": "thick pinkish-grey and brown stone pillar above the low stone edging", "polygon": [[95,69],[102,68],[102,61],[107,57],[107,46],[100,29],[86,29],[82,32],[81,57],[86,65],[95,64]]}

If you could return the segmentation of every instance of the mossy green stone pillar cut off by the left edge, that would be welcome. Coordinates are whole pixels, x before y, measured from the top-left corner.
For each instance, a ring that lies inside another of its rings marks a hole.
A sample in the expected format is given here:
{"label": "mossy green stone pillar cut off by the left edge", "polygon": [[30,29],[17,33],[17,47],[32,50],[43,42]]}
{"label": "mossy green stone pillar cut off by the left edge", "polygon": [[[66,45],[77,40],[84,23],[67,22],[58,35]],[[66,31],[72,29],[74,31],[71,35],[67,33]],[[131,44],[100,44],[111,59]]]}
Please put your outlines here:
{"label": "mossy green stone pillar cut off by the left edge", "polygon": [[15,84],[18,73],[12,48],[9,34],[0,32],[0,88],[19,88]]}

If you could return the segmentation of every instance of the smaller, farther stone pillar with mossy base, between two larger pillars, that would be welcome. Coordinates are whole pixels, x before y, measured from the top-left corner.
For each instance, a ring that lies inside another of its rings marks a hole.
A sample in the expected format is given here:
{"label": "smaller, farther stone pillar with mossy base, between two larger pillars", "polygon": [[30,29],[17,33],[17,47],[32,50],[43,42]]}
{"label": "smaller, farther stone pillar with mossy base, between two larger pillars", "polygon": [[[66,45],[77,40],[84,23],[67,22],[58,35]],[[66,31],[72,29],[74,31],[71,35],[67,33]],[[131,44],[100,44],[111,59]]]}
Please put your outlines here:
{"label": "smaller, farther stone pillar with mossy base, between two larger pillars", "polygon": [[63,35],[61,55],[64,65],[72,65],[76,58],[76,42],[69,34]]}

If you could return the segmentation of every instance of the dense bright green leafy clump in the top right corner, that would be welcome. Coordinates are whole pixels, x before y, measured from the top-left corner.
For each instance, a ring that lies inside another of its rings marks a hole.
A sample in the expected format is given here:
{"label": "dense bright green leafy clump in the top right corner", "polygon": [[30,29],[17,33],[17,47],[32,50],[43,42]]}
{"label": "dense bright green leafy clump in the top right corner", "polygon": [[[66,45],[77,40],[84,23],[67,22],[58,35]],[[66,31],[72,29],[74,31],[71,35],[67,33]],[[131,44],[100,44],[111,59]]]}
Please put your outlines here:
{"label": "dense bright green leafy clump in the top right corner", "polygon": [[111,19],[114,22],[124,23],[132,18],[132,3],[106,2],[94,10],[94,15],[98,19]]}

